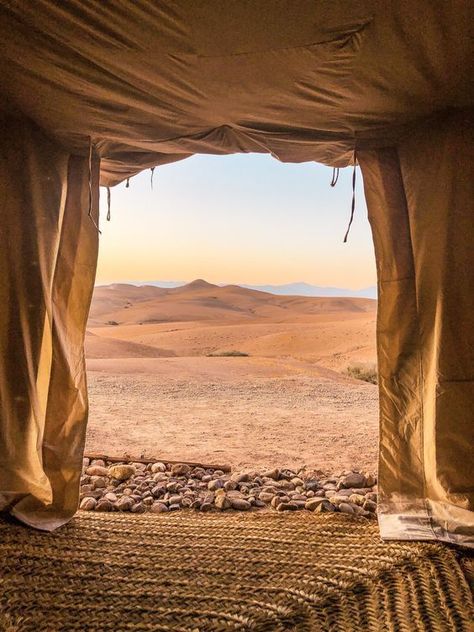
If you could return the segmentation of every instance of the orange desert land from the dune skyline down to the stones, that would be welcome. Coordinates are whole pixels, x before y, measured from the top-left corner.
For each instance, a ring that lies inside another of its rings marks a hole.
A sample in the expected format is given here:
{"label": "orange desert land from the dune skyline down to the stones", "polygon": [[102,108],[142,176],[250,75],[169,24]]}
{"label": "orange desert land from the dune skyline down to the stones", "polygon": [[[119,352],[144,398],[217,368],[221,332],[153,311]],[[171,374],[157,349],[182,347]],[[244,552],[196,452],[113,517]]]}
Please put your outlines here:
{"label": "orange desert land from the dune skyline down to the stones", "polygon": [[[86,336],[89,452],[374,470],[375,301],[195,281],[96,288]],[[241,352],[247,357],[219,357]],[[209,354],[213,354],[210,357]]]}

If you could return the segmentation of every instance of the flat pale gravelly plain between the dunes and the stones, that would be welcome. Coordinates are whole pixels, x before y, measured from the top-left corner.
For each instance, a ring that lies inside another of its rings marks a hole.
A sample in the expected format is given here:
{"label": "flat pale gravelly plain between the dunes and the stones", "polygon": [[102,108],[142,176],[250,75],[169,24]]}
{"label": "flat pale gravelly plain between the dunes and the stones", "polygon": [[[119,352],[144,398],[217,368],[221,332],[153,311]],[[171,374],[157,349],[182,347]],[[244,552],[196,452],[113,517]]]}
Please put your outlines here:
{"label": "flat pale gravelly plain between the dunes and the stones", "polygon": [[150,362],[140,371],[120,360],[102,370],[90,363],[88,452],[234,469],[376,469],[372,384],[294,361],[284,370],[281,360]]}

